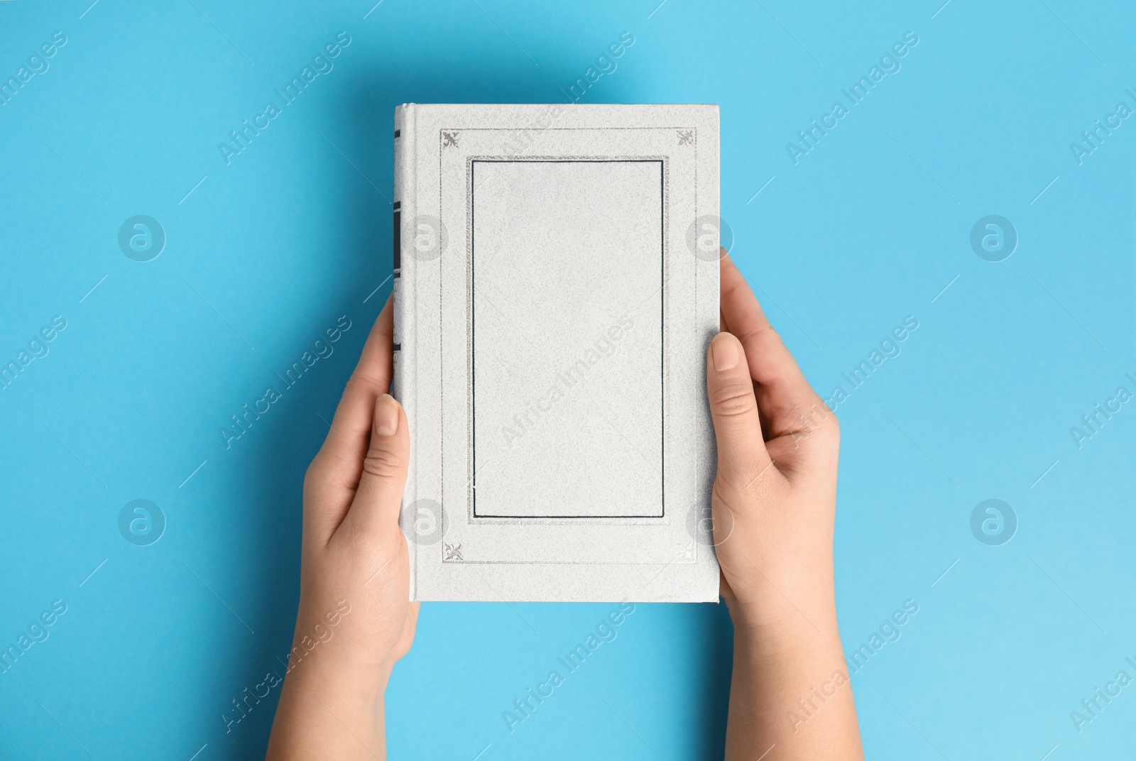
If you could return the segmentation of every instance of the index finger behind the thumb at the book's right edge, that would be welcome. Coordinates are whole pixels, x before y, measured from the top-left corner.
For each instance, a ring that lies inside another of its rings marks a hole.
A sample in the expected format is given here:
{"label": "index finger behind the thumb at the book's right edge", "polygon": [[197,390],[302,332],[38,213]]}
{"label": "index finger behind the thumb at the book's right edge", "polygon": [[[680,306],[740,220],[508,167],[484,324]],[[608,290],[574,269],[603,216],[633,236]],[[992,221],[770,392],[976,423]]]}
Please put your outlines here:
{"label": "index finger behind the thumb at the book's right edge", "polygon": [[770,437],[796,432],[820,403],[777,331],[761,311],[745,277],[729,257],[721,259],[721,316],[745,349],[757,400]]}

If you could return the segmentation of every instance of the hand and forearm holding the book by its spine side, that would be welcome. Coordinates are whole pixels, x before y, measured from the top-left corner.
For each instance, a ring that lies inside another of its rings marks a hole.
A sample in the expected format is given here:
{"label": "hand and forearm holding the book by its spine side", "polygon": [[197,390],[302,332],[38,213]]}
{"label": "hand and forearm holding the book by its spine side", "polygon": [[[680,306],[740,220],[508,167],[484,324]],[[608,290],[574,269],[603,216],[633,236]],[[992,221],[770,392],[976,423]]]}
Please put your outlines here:
{"label": "hand and forearm holding the book by its spine side", "polygon": [[[399,528],[410,438],[387,393],[392,333],[387,299],[303,479],[300,607],[268,741],[273,761],[386,758],[383,694],[418,621]],[[329,626],[327,613],[344,603],[350,612]],[[320,641],[317,626],[329,638]]]}

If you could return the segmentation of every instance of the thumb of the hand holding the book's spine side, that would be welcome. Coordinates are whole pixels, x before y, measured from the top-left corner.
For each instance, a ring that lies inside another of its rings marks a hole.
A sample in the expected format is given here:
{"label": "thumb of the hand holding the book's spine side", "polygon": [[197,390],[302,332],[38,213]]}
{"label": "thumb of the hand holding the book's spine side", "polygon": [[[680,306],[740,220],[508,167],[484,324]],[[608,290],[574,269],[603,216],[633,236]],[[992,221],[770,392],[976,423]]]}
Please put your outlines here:
{"label": "thumb of the hand holding the book's spine side", "polygon": [[350,530],[377,536],[398,527],[409,460],[407,413],[393,396],[381,394],[375,400],[370,444],[362,461],[359,487],[343,519]]}

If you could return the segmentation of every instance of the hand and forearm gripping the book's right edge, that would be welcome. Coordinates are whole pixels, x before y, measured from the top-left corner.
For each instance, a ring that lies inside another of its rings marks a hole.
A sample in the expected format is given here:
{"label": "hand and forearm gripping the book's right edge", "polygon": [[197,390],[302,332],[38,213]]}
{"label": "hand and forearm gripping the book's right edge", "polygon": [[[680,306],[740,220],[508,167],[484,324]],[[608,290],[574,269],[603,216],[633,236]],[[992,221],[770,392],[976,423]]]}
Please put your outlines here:
{"label": "hand and forearm gripping the book's right edge", "polygon": [[725,250],[721,331],[707,394],[713,534],[734,622],[726,759],[862,759],[833,586],[840,426]]}

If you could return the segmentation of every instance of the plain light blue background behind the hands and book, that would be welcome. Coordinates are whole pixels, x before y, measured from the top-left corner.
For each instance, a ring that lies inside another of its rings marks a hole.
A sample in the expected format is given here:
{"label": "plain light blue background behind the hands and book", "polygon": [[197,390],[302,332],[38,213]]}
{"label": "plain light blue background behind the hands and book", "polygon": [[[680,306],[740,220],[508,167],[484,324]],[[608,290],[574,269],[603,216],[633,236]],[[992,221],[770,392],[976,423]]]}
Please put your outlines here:
{"label": "plain light blue background behind the hands and book", "polygon": [[[822,396],[919,320],[837,408],[846,652],[919,604],[854,676],[869,758],[1130,755],[1136,686],[1079,733],[1069,714],[1136,676],[1136,402],[1081,448],[1070,428],[1136,392],[1136,122],[1080,164],[1069,145],[1136,106],[1136,9],[941,1],[0,2],[5,80],[67,37],[0,107],[0,359],[67,320],[0,391],[0,643],[68,605],[0,675],[0,756],[264,752],[277,691],[228,733],[222,714],[282,669],[302,475],[390,292],[393,108],[563,101],[623,32],[582,102],[720,103],[735,259]],[[794,162],[786,143],[908,31],[902,68]],[[226,165],[229,131],[340,32],[334,69]],[[140,214],[168,239],[145,264],[117,242]],[[971,249],[986,215],[1017,229],[1004,261]],[[226,450],[229,416],[340,316],[334,354]],[[135,499],[167,519],[150,546],[118,532]],[[1018,517],[1001,546],[970,529],[986,499]],[[424,604],[392,755],[720,755],[715,605],[640,605],[506,729],[610,608]]]}

